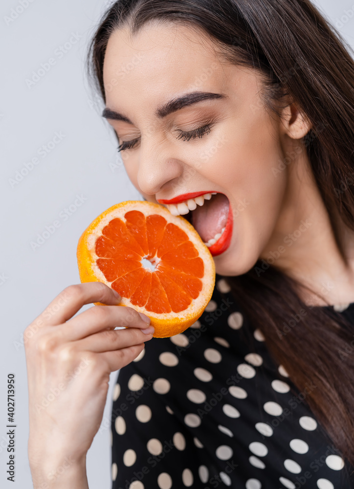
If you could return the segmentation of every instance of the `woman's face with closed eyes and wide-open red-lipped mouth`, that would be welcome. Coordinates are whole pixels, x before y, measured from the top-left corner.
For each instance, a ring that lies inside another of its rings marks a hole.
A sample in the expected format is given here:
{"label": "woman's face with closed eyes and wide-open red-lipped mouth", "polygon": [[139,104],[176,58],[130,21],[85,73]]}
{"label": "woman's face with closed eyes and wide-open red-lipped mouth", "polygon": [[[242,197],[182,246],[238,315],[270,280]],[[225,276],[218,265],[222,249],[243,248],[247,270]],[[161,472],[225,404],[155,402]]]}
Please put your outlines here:
{"label": "woman's face with closed eyes and wide-open red-lipped mouth", "polygon": [[[258,72],[222,63],[214,47],[188,26],[151,24],[133,40],[128,30],[115,31],[104,61],[105,116],[120,145],[137,140],[121,156],[146,200],[217,193],[202,206],[200,197],[196,204],[191,200],[196,210],[182,215],[192,219],[204,242],[226,227],[209,249],[217,273],[228,276],[253,267],[274,241],[287,185],[287,172],[274,168],[286,155],[288,139],[262,104]],[[218,95],[162,109],[195,92]],[[208,124],[201,137],[184,134]],[[186,211],[176,205],[169,207],[172,213]]]}

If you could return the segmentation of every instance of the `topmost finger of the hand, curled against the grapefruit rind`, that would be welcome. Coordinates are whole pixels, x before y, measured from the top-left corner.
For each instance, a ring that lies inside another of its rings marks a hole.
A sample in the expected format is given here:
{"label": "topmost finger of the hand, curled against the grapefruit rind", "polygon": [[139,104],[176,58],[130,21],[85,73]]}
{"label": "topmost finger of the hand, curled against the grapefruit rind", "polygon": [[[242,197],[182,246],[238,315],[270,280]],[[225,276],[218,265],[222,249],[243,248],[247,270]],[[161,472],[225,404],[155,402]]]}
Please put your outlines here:
{"label": "topmost finger of the hand, curled against the grapefruit rind", "polygon": [[120,301],[120,295],[103,282],[73,284],[62,290],[35,319],[35,322],[58,326],[70,319],[85,304],[101,302],[114,306]]}

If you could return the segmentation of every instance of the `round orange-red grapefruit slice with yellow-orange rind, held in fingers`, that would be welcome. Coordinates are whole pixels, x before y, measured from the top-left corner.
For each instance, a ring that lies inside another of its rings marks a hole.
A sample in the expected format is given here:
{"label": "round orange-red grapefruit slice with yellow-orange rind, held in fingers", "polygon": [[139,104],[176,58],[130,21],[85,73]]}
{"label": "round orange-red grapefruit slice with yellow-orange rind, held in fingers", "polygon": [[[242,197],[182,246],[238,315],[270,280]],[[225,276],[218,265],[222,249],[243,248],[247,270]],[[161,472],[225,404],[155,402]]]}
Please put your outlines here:
{"label": "round orange-red grapefruit slice with yellow-orange rind, held in fingers", "polygon": [[213,257],[192,224],[148,201],[127,200],[100,214],[81,235],[77,260],[81,282],[116,290],[119,306],[150,317],[156,338],[193,324],[215,285]]}

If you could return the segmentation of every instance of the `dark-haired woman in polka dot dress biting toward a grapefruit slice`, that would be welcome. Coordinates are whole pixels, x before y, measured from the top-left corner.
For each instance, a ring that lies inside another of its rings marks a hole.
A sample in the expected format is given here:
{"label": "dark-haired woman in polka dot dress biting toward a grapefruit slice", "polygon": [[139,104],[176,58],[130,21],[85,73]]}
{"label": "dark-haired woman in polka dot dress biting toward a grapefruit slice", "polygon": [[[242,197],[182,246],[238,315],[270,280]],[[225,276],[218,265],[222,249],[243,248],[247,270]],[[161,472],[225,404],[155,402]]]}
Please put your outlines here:
{"label": "dark-haired woman in polka dot dress biting toward a grapefruit slice", "polygon": [[[121,368],[113,488],[353,488],[354,63],[340,35],[308,0],[121,0],[88,59],[129,178],[193,223],[217,281],[172,338],[148,341],[100,283],[69,286],[27,327],[34,487],[88,487]],[[107,307],[72,318],[90,302]]]}

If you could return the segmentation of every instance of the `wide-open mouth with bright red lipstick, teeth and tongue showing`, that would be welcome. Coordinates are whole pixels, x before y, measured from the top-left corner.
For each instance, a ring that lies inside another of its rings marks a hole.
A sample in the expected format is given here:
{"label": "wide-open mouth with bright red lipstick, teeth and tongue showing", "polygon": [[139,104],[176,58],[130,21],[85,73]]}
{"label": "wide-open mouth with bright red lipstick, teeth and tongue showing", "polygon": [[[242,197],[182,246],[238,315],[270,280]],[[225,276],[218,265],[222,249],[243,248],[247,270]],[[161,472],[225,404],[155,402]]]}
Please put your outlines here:
{"label": "wide-open mouth with bright red lipstick, teeth and tongue showing", "polygon": [[218,255],[228,247],[232,218],[230,202],[224,194],[211,192],[177,204],[165,205],[171,214],[181,215],[193,225],[212,255]]}

